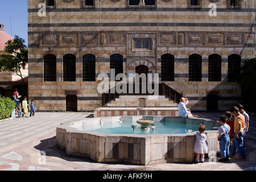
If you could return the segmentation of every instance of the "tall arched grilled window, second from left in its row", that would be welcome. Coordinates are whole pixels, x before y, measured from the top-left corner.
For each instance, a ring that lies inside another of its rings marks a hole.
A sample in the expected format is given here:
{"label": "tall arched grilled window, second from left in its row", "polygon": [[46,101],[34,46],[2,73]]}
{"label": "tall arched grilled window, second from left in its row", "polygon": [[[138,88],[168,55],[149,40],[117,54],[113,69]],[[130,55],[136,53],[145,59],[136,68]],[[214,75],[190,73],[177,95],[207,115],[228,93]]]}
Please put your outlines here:
{"label": "tall arched grilled window, second from left in its row", "polygon": [[63,57],[63,81],[76,81],[76,56],[72,54]]}

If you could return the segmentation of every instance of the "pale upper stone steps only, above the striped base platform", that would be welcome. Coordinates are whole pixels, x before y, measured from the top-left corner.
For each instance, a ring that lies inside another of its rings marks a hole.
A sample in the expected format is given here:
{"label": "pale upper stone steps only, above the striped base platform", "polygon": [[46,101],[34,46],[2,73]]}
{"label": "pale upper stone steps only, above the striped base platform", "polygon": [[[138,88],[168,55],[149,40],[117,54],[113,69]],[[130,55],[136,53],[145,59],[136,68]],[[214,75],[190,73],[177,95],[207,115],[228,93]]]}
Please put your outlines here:
{"label": "pale upper stone steps only, above the striped base platform", "polygon": [[177,107],[174,101],[165,96],[119,96],[106,104],[106,107]]}

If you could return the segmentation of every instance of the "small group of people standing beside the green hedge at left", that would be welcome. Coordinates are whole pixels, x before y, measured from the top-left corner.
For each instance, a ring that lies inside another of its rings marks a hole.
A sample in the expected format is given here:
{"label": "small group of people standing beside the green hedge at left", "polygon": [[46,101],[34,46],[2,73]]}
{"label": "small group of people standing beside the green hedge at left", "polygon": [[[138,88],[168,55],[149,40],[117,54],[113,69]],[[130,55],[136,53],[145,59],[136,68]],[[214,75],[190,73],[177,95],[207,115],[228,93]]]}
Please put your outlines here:
{"label": "small group of people standing beside the green hedge at left", "polygon": [[[28,105],[27,103],[27,97],[23,98],[23,101],[20,102],[19,98],[21,96],[19,96],[18,93],[18,89],[15,89],[15,92],[13,93],[13,98],[15,103],[15,113],[18,114],[18,118],[20,118],[20,116],[22,115],[22,117],[25,115],[25,117],[28,117],[28,108],[30,107],[30,117],[31,115],[35,116],[35,108],[36,105],[34,103],[34,100],[31,101],[31,104]],[[23,113],[22,113],[23,110]]]}

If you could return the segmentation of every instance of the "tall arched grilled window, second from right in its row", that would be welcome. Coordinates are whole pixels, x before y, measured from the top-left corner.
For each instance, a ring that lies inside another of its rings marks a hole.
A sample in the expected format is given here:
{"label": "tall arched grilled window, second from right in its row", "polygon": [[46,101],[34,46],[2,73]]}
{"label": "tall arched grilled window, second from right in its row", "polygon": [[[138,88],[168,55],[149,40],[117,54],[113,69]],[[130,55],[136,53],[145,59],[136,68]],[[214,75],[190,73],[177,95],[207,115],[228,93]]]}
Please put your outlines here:
{"label": "tall arched grilled window, second from right in its row", "polygon": [[221,56],[210,55],[208,58],[208,81],[221,81]]}

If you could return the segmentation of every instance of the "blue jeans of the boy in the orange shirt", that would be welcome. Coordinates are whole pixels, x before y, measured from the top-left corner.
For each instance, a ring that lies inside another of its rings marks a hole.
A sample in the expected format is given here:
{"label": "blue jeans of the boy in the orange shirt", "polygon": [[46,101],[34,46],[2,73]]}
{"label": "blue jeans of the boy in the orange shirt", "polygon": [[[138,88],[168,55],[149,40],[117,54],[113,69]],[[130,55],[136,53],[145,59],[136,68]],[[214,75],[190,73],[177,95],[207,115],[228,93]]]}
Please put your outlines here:
{"label": "blue jeans of the boy in the orange shirt", "polygon": [[236,138],[236,133],[234,133],[230,154],[234,156],[238,150],[241,157],[246,159],[245,149],[243,148],[243,133],[238,133],[238,137],[239,138]]}

